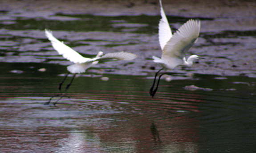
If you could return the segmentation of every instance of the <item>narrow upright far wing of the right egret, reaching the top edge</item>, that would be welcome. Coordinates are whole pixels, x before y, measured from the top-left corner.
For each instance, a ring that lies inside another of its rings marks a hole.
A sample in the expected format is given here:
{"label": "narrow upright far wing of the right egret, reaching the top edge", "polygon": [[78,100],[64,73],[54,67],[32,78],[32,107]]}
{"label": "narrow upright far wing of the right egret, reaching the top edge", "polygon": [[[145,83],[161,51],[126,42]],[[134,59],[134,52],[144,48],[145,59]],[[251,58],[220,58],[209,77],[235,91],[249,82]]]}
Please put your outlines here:
{"label": "narrow upright far wing of the right egret, reaching the top edge", "polygon": [[160,2],[160,13],[161,13],[162,19],[158,24],[158,39],[159,39],[160,47],[163,51],[164,46],[171,39],[172,33],[171,33],[171,28],[168,23],[167,17],[163,10],[162,1],[159,0],[159,2]]}

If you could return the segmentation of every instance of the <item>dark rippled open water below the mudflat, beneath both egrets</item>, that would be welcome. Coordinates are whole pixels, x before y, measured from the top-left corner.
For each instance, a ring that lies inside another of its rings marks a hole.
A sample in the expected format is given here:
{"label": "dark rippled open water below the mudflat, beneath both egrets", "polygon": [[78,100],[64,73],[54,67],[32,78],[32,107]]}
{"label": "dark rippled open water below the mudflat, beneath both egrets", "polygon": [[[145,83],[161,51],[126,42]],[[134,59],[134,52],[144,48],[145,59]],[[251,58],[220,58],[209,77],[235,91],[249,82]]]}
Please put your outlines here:
{"label": "dark rippled open water below the mudflat, beneath both egrets", "polygon": [[[2,64],[4,72],[10,67],[30,67],[29,63]],[[53,68],[52,64],[41,67]],[[242,153],[243,146],[254,149],[248,145],[255,142],[253,78],[194,75],[163,81],[159,93],[151,98],[151,79],[104,74],[109,80],[102,81],[86,75],[74,81],[66,93],[70,98],[62,98],[55,107],[43,104],[58,93],[57,80],[63,77],[47,71],[34,71],[34,77],[28,77],[32,71],[28,68],[21,74],[1,75],[4,152],[19,148],[22,152],[191,153],[228,149]],[[191,91],[184,88],[187,85],[213,90]]]}

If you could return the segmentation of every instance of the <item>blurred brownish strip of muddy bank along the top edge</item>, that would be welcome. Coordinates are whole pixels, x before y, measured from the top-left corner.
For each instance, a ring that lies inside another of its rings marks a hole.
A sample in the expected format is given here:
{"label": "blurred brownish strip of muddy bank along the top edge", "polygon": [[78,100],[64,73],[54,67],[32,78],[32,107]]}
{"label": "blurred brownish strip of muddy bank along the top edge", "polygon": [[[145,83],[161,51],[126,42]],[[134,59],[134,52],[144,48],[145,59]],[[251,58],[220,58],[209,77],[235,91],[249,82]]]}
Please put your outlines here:
{"label": "blurred brownish strip of muddy bank along the top edge", "polygon": [[[169,16],[238,18],[256,16],[253,0],[163,0]],[[159,15],[158,0],[0,0],[0,10],[105,16]]]}

